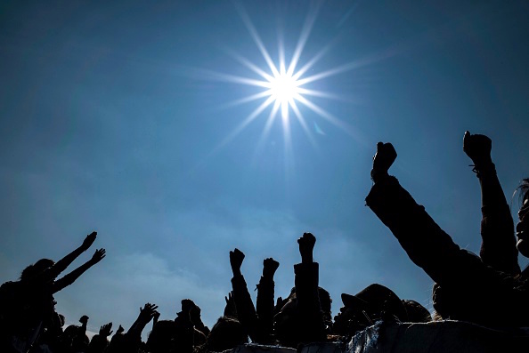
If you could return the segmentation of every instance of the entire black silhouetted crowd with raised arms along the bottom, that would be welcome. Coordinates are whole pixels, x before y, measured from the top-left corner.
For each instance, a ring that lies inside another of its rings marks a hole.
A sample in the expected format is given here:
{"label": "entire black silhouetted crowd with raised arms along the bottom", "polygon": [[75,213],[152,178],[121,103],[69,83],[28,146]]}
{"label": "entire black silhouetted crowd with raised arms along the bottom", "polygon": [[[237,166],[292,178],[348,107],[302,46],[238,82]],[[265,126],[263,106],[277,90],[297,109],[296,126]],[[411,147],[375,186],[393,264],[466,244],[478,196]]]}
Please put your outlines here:
{"label": "entire black silhouetted crowd with raised arms along the bottom", "polygon": [[[466,132],[463,150],[473,161],[481,187],[479,256],[454,244],[395,176],[389,175],[397,156],[390,143],[378,142],[366,205],[393,233],[411,261],[435,282],[435,320],[455,319],[489,327],[529,326],[529,270],[522,271],[517,263],[518,252],[529,257],[529,179],[519,186],[522,205],[516,240],[514,221],[492,163],[492,141]],[[60,277],[94,244],[96,236],[95,232],[86,236],[82,245],[60,261],[42,259],[29,265],[18,281],[0,287],[0,352],[207,353],[249,341],[297,348],[311,342],[349,341],[355,333],[380,320],[432,320],[417,301],[403,300],[378,284],[354,295],[342,293],[343,305],[338,315],[331,317],[332,300],[319,286],[319,264],[313,260],[316,237],[304,233],[297,239],[301,261],[294,265],[294,286],[285,299],[276,298],[274,293],[273,277],[280,263],[267,258],[256,288],[256,303],[252,301],[241,272],[245,254],[236,248],[229,253],[232,292],[225,297],[224,313],[211,329],[204,325],[200,308],[191,299],[183,299],[181,310],[169,320],[160,320],[158,307],[148,302],[127,330],[119,325],[111,336],[109,323],[89,340],[89,317],[81,317],[80,325],[63,328],[65,318],[56,312],[53,294],[72,285],[105,257],[104,249],[96,250],[89,261]],[[143,342],[142,332],[149,323],[151,332]]]}

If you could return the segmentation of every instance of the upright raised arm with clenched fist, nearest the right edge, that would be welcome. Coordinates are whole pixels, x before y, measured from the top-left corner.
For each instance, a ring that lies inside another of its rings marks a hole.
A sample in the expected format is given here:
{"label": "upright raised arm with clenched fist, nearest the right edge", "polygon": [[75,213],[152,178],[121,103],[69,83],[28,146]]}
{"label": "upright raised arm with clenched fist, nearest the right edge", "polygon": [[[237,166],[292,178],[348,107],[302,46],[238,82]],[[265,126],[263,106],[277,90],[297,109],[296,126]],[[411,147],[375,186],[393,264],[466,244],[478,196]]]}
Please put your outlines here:
{"label": "upright raised arm with clenched fist, nearest the right edge", "polygon": [[517,258],[514,222],[509,205],[501,189],[501,183],[492,163],[492,140],[487,136],[465,132],[463,151],[474,163],[481,187],[481,237],[480,257],[493,269],[517,274],[520,272]]}

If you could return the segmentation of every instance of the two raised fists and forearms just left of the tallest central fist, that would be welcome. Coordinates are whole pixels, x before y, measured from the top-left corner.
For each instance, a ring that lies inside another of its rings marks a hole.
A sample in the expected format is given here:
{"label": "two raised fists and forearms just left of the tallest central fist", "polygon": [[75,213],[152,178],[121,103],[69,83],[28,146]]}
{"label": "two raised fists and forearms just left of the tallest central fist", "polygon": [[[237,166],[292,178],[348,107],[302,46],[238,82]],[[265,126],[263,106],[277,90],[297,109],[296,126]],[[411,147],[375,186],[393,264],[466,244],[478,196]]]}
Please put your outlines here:
{"label": "two raised fists and forearms just left of the tallest central fist", "polygon": [[248,286],[240,272],[244,253],[239,249],[230,252],[232,266],[232,296],[237,318],[247,330],[252,341],[262,344],[273,343],[273,275],[279,262],[272,258],[263,261],[263,276],[257,285],[257,309],[248,292]]}

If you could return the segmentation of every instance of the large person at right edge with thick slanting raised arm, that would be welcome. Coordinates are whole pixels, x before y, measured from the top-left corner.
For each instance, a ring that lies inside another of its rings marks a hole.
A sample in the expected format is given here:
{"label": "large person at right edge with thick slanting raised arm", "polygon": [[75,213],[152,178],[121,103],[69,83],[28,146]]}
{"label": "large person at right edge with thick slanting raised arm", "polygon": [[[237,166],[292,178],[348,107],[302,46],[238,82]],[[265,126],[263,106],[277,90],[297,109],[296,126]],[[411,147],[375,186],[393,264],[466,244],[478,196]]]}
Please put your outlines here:
{"label": "large person at right edge with thick slanting raised arm", "polygon": [[[424,269],[445,291],[458,293],[458,319],[491,326],[529,325],[529,283],[527,273],[519,275],[487,266],[475,254],[460,249],[452,238],[439,228],[387,171],[395,161],[395,148],[378,142],[371,178],[374,185],[366,203],[394,234],[411,261]],[[517,249],[529,256],[526,234],[529,222],[527,193],[524,182],[524,205],[518,213]]]}

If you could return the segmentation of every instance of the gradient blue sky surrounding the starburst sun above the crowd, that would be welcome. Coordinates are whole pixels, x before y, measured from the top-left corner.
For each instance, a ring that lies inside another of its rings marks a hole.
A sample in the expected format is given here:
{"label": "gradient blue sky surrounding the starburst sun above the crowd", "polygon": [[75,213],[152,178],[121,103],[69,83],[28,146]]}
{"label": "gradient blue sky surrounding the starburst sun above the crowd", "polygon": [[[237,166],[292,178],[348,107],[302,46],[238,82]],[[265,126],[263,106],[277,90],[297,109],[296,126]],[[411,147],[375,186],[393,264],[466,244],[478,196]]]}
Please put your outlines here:
{"label": "gradient blue sky surrounding the starburst sun above the crowd", "polygon": [[268,70],[238,7],[277,63],[278,38],[289,60],[317,6],[0,4],[0,281],[60,259],[94,229],[107,257],[56,296],[68,323],[86,314],[93,331],[128,327],[147,301],[173,318],[191,298],[213,325],[232,248],[247,255],[250,290],[265,257],[280,261],[276,294],[286,296],[296,239],[311,231],[333,314],[340,293],[373,282],[431,309],[431,280],[364,206],[371,156],[379,140],[393,142],[392,172],[478,252],[480,194],[463,132],[491,136],[510,197],[529,175],[529,4],[321,3],[299,66],[326,45],[306,76],[353,64],[309,84],[337,96],[311,101],[345,127],[302,106],[314,143],[290,119],[289,148],[281,119],[263,137],[270,107],[223,143],[264,99],[227,104],[262,89],[213,73],[259,78],[233,53]]}

